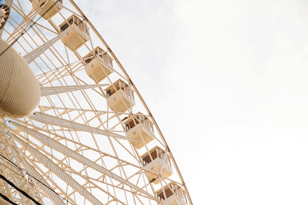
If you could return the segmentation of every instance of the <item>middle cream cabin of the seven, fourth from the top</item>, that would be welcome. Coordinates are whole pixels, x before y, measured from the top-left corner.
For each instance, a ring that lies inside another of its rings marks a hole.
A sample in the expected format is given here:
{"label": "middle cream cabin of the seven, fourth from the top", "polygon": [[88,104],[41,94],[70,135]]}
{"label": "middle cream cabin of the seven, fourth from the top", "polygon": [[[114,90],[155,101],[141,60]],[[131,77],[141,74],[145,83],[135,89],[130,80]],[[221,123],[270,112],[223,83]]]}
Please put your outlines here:
{"label": "middle cream cabin of the seven, fourth from the top", "polygon": [[125,112],[135,105],[133,90],[121,79],[105,89],[107,105],[114,112]]}

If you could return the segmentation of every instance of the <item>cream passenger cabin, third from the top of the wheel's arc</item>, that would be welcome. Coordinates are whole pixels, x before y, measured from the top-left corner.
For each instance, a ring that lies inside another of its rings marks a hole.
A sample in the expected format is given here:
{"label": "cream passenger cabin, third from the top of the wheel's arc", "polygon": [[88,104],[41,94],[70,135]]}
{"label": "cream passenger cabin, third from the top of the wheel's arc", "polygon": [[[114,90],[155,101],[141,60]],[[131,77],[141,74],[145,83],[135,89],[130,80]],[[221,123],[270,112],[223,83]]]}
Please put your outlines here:
{"label": "cream passenger cabin, third from the top of the wheel's arc", "polygon": [[93,55],[93,52],[90,52],[84,57],[84,65],[88,76],[92,78],[95,83],[98,83],[113,72],[113,59],[99,47],[94,49],[94,54],[95,55]]}

